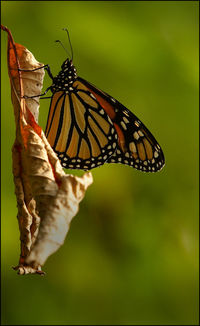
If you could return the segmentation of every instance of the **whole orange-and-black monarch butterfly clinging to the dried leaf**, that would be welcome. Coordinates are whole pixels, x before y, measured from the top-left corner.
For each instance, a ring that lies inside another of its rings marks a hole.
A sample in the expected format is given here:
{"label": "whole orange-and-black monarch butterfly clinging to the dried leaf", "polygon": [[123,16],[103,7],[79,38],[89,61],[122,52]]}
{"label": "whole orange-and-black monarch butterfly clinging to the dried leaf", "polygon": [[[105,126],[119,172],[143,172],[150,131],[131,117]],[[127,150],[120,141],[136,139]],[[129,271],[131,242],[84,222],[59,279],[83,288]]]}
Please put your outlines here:
{"label": "whole orange-and-black monarch butterfly clinging to the dried leaf", "polygon": [[45,134],[61,165],[91,170],[122,163],[161,170],[164,155],[150,131],[120,102],[77,76],[72,60],[73,51],[56,77],[47,69],[53,84],[47,89],[52,97]]}

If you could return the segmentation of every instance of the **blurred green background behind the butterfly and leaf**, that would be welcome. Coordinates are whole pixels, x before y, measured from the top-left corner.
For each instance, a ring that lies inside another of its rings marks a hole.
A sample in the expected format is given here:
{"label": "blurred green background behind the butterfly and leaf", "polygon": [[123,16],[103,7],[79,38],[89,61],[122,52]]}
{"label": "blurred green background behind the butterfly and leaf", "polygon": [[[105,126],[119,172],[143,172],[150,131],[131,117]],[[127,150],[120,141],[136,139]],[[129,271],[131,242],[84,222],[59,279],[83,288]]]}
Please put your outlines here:
{"label": "blurred green background behind the butterfly and leaf", "polygon": [[[15,123],[1,32],[2,324],[198,324],[198,1],[2,1],[2,24],[57,74],[81,77],[132,110],[161,144],[156,174],[93,170],[45,277],[20,277],[12,177]],[[50,85],[45,77],[44,89]],[[45,128],[49,100],[41,101]],[[72,171],[69,170],[71,173]],[[74,174],[78,174],[73,172]]]}

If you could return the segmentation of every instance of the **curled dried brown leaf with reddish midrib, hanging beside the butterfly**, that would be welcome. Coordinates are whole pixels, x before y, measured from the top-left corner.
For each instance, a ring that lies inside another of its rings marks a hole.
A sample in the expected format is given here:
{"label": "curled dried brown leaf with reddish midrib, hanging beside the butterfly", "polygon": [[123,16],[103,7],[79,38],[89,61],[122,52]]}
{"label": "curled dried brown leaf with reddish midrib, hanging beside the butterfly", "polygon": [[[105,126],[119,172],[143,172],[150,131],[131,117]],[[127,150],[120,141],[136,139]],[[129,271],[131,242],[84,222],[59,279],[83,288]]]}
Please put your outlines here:
{"label": "curled dried brown leaf with reddish midrib, hanging beside the butterfly", "polygon": [[8,33],[8,71],[16,122],[13,175],[18,205],[21,254],[19,274],[43,274],[41,266],[63,244],[79,202],[93,182],[92,174],[66,175],[37,124],[44,69],[32,53]]}

